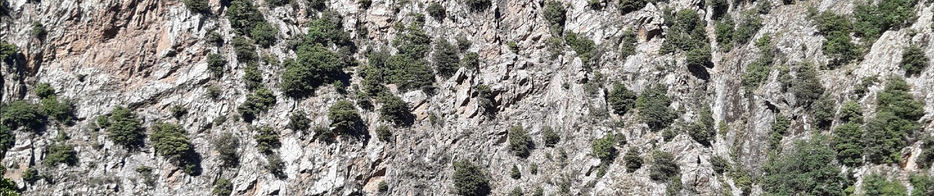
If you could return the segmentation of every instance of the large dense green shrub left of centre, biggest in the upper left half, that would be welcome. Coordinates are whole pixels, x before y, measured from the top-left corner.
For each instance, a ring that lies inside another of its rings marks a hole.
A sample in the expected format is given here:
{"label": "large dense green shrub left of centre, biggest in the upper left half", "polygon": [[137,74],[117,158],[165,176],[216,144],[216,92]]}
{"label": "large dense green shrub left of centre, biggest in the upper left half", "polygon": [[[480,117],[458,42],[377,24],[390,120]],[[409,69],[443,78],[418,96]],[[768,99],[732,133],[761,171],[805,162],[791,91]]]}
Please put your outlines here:
{"label": "large dense green shrub left of centre, biggest in the upper left half", "polygon": [[285,61],[286,71],[279,84],[282,92],[291,98],[305,98],[314,94],[320,85],[332,82],[344,74],[347,63],[324,46],[299,46],[296,59]]}

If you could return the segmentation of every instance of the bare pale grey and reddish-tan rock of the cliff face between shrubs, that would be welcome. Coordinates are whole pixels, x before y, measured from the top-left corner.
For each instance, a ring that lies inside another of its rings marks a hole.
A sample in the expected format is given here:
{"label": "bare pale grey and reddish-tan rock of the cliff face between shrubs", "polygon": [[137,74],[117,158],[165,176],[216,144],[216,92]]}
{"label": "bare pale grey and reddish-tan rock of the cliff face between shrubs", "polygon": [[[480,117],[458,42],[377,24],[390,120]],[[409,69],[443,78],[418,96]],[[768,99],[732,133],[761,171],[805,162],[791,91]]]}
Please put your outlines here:
{"label": "bare pale grey and reddish-tan rock of the cliff face between shrubs", "polygon": [[[831,58],[822,49],[828,39],[809,19],[810,12],[846,14],[856,7],[855,1],[809,0],[790,5],[777,0],[730,1],[727,14],[734,19],[761,4],[771,10],[759,15],[761,28],[751,34],[750,41],[729,50],[715,39],[718,20],[710,11],[712,3],[703,0],[648,3],[625,15],[616,1],[597,1],[602,5],[598,9],[588,1],[559,2],[566,7],[563,31],[579,33],[595,44],[594,55],[587,61],[573,46],[559,46],[557,55],[549,51],[549,38],[560,35],[545,19],[545,1],[493,1],[484,9],[461,1],[438,1],[446,17],[425,17],[422,29],[434,40],[454,42],[462,36],[471,41],[466,52],[479,55],[479,69],[461,67],[451,76],[435,76],[431,94],[387,85],[391,94],[409,103],[415,120],[410,126],[393,126],[392,137],[383,141],[375,137],[375,128],[389,123],[380,119],[378,110],[362,107],[360,123],[366,128],[361,135],[320,139],[321,133],[290,129],[290,115],[295,111],[306,111],[313,125],[328,126],[333,103],[357,100],[330,85],[318,87],[310,98],[289,98],[278,88],[285,69],[272,63],[261,64],[259,70],[262,85],[276,95],[275,106],[252,122],[240,120],[236,108],[250,93],[243,82],[246,63],[238,62],[231,44],[237,35],[226,16],[230,2],[208,1],[208,14],[191,11],[181,1],[7,0],[6,14],[0,16],[0,40],[19,50],[0,68],[3,101],[38,102],[36,85],[48,83],[58,98],[72,101],[76,120],[70,125],[50,121],[40,132],[14,131],[15,144],[2,159],[7,168],[4,176],[16,183],[22,195],[207,195],[220,178],[231,180],[233,195],[455,195],[452,162],[468,160],[486,168],[482,172],[490,179],[490,195],[506,195],[515,188],[526,194],[542,188],[545,195],[761,195],[764,190],[757,179],[767,175],[762,165],[773,150],[769,140],[776,115],[791,119],[787,133],[780,135],[780,147],[790,149],[794,141],[808,140],[813,133],[832,135],[832,129],[814,125],[811,107],[800,106],[800,100],[784,89],[789,79],[783,78],[781,67],[800,62],[828,64]],[[274,45],[258,48],[260,54],[276,61],[295,58],[290,41],[302,39],[309,21],[321,16],[305,0],[281,7],[253,3],[278,30]],[[394,26],[417,20],[415,14],[428,15],[425,10],[430,3],[375,0],[363,8],[354,0],[331,0],[324,9],[343,17],[343,31],[357,47],[349,57],[365,64],[368,49],[393,48],[389,43],[400,33]],[[672,19],[663,11],[666,7],[700,13],[702,29],[708,34],[705,41],[712,51],[710,66],[691,70],[685,66],[684,52],[660,51],[672,37]],[[904,75],[899,65],[906,46],[921,46],[925,56],[934,58],[930,4],[918,3],[909,10],[916,20],[882,33],[866,47],[862,60],[817,71],[824,95],[837,105],[856,100],[865,115],[872,116],[876,95],[884,85],[869,85],[866,96],[857,97],[852,92],[862,78]],[[44,36],[32,33],[35,22],[45,27]],[[622,56],[622,38],[628,31],[636,33],[637,42],[634,53]],[[223,44],[206,41],[212,33],[218,33]],[[776,60],[761,85],[746,89],[743,73],[751,72],[750,64],[763,55],[756,46],[762,36],[771,37]],[[511,42],[516,51],[507,44]],[[207,55],[212,53],[229,62],[222,77],[212,77],[209,70]],[[345,69],[350,75],[348,86],[362,85],[360,69]],[[930,95],[934,72],[924,69],[906,81],[914,98],[934,106],[934,95]],[[634,111],[612,112],[607,98],[616,82],[635,92],[666,86],[670,107],[678,114],[669,130],[652,130]],[[493,116],[484,115],[478,85],[490,87],[497,111]],[[218,86],[219,98],[207,98],[207,86]],[[200,174],[187,174],[185,168],[157,154],[149,139],[139,150],[111,141],[106,130],[97,128],[95,119],[115,106],[136,112],[150,134],[149,127],[156,122],[180,124],[199,156]],[[173,106],[188,112],[175,118]],[[710,108],[716,124],[722,124],[717,127],[723,127],[709,146],[692,138],[689,133],[695,130],[687,126],[698,121],[704,106]],[[884,174],[914,189],[909,178],[928,173],[916,165],[923,147],[919,138],[931,129],[929,113],[934,108],[924,111],[919,134],[905,138],[906,147],[899,152],[902,161],[841,166],[855,179],[852,184],[857,193],[862,192],[858,189],[863,187],[862,179],[870,174]],[[215,122],[219,118],[228,120]],[[510,151],[507,132],[515,125],[527,130],[535,144],[527,158]],[[270,160],[256,148],[253,138],[258,133],[251,126],[276,129],[281,175],[268,169]],[[544,145],[545,127],[559,134],[555,147]],[[218,149],[212,145],[224,133],[240,138],[236,167],[222,167]],[[673,137],[666,138],[666,133]],[[67,138],[62,142],[73,146],[78,163],[43,163],[50,156],[50,146],[60,142],[63,134]],[[608,162],[597,158],[591,146],[605,136],[626,139],[612,147],[618,156]],[[646,159],[634,172],[626,171],[623,160],[630,149]],[[650,178],[654,150],[672,153],[680,171],[678,182]],[[711,161],[715,156],[743,168],[746,182],[752,176],[750,189],[743,189],[745,182],[739,182],[738,176],[716,174]],[[511,177],[514,165],[521,174],[518,179]],[[150,167],[151,175],[138,172],[142,166]],[[23,180],[29,168],[35,168],[43,179]],[[381,190],[381,184],[388,189]],[[670,190],[675,184],[682,188]]]}

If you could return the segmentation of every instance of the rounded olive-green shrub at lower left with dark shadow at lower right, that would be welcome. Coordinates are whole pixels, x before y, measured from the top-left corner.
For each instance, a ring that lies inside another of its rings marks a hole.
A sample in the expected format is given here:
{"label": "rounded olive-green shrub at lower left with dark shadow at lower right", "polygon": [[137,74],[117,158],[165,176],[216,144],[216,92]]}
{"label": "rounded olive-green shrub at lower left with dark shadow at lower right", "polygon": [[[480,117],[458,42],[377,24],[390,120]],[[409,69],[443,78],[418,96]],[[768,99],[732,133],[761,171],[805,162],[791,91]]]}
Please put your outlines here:
{"label": "rounded olive-green shrub at lower left with dark shadow at lower right", "polygon": [[194,150],[188,132],[178,124],[157,122],[152,125],[152,146],[156,152],[173,161],[180,161]]}

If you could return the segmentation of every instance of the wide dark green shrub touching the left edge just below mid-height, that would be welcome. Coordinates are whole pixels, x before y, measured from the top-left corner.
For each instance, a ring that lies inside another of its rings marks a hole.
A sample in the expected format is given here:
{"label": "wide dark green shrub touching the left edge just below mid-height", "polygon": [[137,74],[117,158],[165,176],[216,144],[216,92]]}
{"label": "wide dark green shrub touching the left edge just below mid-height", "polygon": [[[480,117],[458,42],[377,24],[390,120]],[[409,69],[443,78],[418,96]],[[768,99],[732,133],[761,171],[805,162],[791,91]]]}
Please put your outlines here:
{"label": "wide dark green shrub touching the left edge just below mid-height", "polygon": [[38,105],[25,100],[0,103],[0,121],[13,130],[22,128],[24,131],[38,131],[45,124],[46,118]]}

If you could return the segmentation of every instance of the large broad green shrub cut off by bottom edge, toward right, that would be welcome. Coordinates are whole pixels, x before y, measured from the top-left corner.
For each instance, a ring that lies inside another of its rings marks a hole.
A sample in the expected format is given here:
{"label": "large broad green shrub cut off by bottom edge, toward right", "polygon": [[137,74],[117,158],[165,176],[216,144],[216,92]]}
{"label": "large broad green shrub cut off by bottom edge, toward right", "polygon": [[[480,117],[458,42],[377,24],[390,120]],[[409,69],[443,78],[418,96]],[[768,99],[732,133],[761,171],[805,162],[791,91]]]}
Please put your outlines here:
{"label": "large broad green shrub cut off by bottom edge, toward right", "polygon": [[763,166],[760,185],[772,195],[843,196],[851,183],[833,164],[834,150],[827,137],[814,135],[810,141],[796,141],[793,148],[772,156]]}

